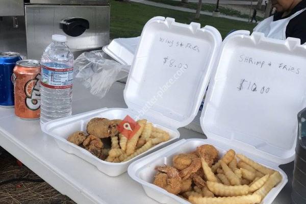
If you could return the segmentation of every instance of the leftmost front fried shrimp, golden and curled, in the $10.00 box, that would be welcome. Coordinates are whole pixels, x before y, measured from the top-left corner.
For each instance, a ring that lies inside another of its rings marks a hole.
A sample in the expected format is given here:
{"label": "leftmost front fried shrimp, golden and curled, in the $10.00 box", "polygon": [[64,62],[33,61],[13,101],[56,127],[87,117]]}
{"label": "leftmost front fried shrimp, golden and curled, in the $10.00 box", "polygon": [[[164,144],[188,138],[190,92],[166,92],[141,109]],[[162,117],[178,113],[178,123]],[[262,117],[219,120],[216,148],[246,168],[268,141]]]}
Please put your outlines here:
{"label": "leftmost front fried shrimp, golden and curled, in the $10.00 box", "polygon": [[182,188],[182,178],[176,168],[160,166],[156,168],[163,172],[155,176],[154,184],[165,189],[169,193],[179,194]]}

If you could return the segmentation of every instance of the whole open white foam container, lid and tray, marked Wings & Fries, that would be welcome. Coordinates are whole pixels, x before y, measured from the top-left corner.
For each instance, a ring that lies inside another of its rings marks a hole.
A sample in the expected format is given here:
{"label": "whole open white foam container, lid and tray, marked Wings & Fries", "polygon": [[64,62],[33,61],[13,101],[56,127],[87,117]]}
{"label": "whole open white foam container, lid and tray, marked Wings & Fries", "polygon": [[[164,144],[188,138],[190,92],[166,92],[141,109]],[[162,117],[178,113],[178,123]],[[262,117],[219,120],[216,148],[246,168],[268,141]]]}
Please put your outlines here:
{"label": "whole open white foam container, lid and tray, marked Wings & Fries", "polygon": [[[180,42],[178,46],[176,41]],[[179,138],[177,129],[193,120],[208,86],[221,42],[220,33],[213,27],[177,23],[173,18],[152,18],[142,31],[124,89],[128,108],[100,109],[49,121],[42,125],[42,131],[53,136],[58,146],[68,153],[88,161],[110,176],[120,175],[136,159]],[[66,140],[69,134],[84,131],[86,123],[93,117],[123,119],[126,115],[136,120],[146,118],[168,131],[170,140],[122,163],[99,160]]]}

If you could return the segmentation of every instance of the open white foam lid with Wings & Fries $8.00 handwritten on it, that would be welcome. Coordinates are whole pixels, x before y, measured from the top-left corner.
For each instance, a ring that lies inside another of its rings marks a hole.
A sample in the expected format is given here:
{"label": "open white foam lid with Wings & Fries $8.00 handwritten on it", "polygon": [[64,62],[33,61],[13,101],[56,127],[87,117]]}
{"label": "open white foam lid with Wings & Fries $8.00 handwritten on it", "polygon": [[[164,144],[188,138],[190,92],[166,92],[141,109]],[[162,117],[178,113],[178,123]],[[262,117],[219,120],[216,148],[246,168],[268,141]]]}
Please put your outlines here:
{"label": "open white foam lid with Wings & Fries $8.00 handwritten on it", "polygon": [[154,17],[144,26],[124,100],[151,122],[175,129],[197,114],[219,48],[220,33],[199,23]]}

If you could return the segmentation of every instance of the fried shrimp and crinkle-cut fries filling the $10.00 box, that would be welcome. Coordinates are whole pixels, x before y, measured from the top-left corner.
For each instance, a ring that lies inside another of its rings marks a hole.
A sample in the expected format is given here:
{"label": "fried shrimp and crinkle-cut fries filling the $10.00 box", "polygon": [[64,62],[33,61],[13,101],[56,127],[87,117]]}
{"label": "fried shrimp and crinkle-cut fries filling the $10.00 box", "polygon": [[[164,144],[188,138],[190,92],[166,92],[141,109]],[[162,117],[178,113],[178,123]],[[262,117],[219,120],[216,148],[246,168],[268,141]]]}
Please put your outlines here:
{"label": "fried shrimp and crinkle-cut fries filling the $10.00 box", "polygon": [[[207,146],[211,146],[207,149],[214,148],[212,145]],[[157,167],[159,172],[154,184],[194,204],[256,204],[283,179],[278,171],[244,155],[236,155],[233,149],[210,163],[211,156],[205,155],[209,151],[202,151],[202,154],[198,148],[197,151],[174,156],[173,167]],[[218,151],[215,151],[218,155]],[[192,159],[184,160],[188,155]],[[185,169],[179,168],[182,165],[177,166],[178,157],[182,164],[188,164],[184,168],[189,168],[189,176],[182,177]],[[197,160],[200,161],[198,168]]]}

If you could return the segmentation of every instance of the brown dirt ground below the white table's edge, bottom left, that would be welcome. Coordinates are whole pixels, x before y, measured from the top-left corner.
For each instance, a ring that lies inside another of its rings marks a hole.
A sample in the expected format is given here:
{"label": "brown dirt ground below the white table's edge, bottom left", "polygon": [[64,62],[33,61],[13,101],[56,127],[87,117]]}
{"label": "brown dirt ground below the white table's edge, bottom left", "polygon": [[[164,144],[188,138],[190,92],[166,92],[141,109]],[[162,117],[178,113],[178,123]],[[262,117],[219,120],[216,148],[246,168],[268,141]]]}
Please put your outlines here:
{"label": "brown dirt ground below the white table's edge, bottom left", "polygon": [[74,204],[75,202],[44,182],[0,147],[0,203]]}

